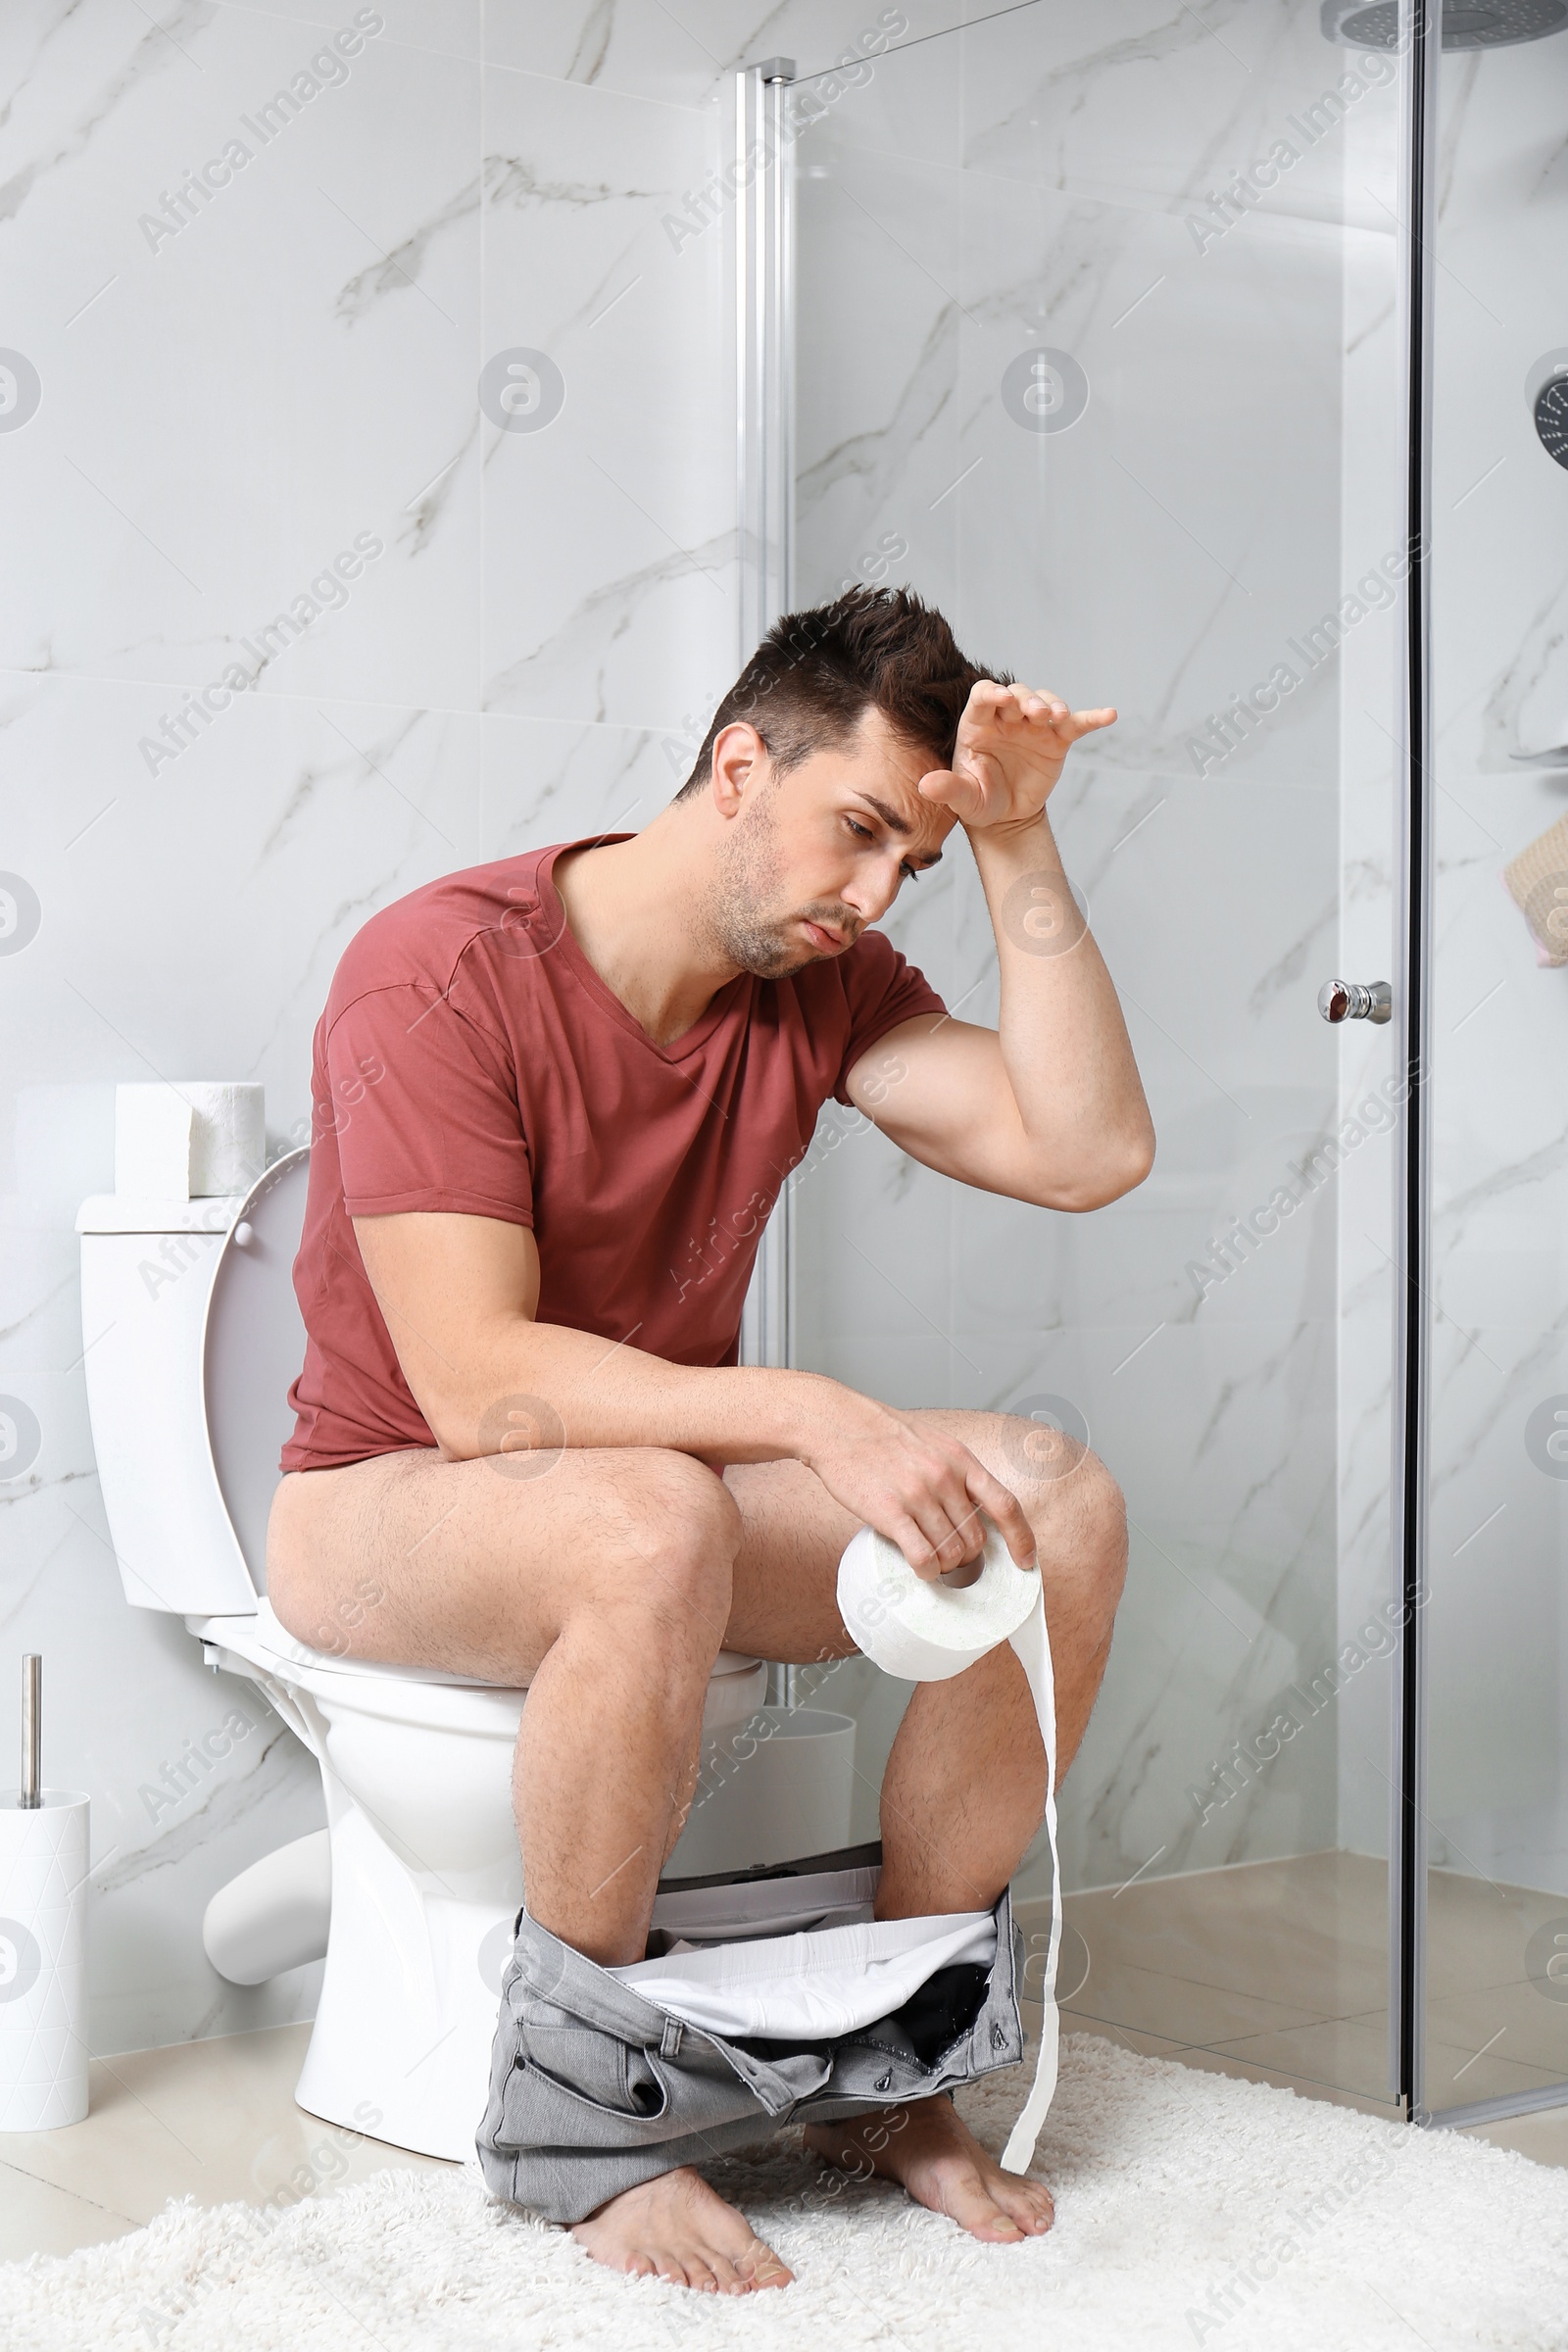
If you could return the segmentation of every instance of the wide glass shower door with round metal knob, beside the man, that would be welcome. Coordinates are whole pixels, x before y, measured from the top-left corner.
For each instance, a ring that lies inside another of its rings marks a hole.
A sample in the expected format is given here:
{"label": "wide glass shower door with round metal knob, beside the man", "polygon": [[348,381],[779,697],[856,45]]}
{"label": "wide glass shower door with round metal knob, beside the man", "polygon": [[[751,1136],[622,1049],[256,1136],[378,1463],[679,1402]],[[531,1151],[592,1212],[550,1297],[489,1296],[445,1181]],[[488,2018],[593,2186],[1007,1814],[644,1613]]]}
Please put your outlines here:
{"label": "wide glass shower door with round metal knob, beside the man", "polygon": [[[1159,1160],[1058,1216],[830,1105],[792,1357],[1072,1428],[1126,1491],[1063,1790],[1067,2030],[1392,2107],[1403,1049],[1316,997],[1396,978],[1401,68],[1319,0],[926,14],[799,56],[788,96],[790,602],[910,583],[973,659],[1119,706],[1051,816]],[[997,1018],[961,849],[886,929]],[[905,1696],[835,1684],[858,1837]],[[1037,1853],[1025,1924],[1046,1886]]]}

